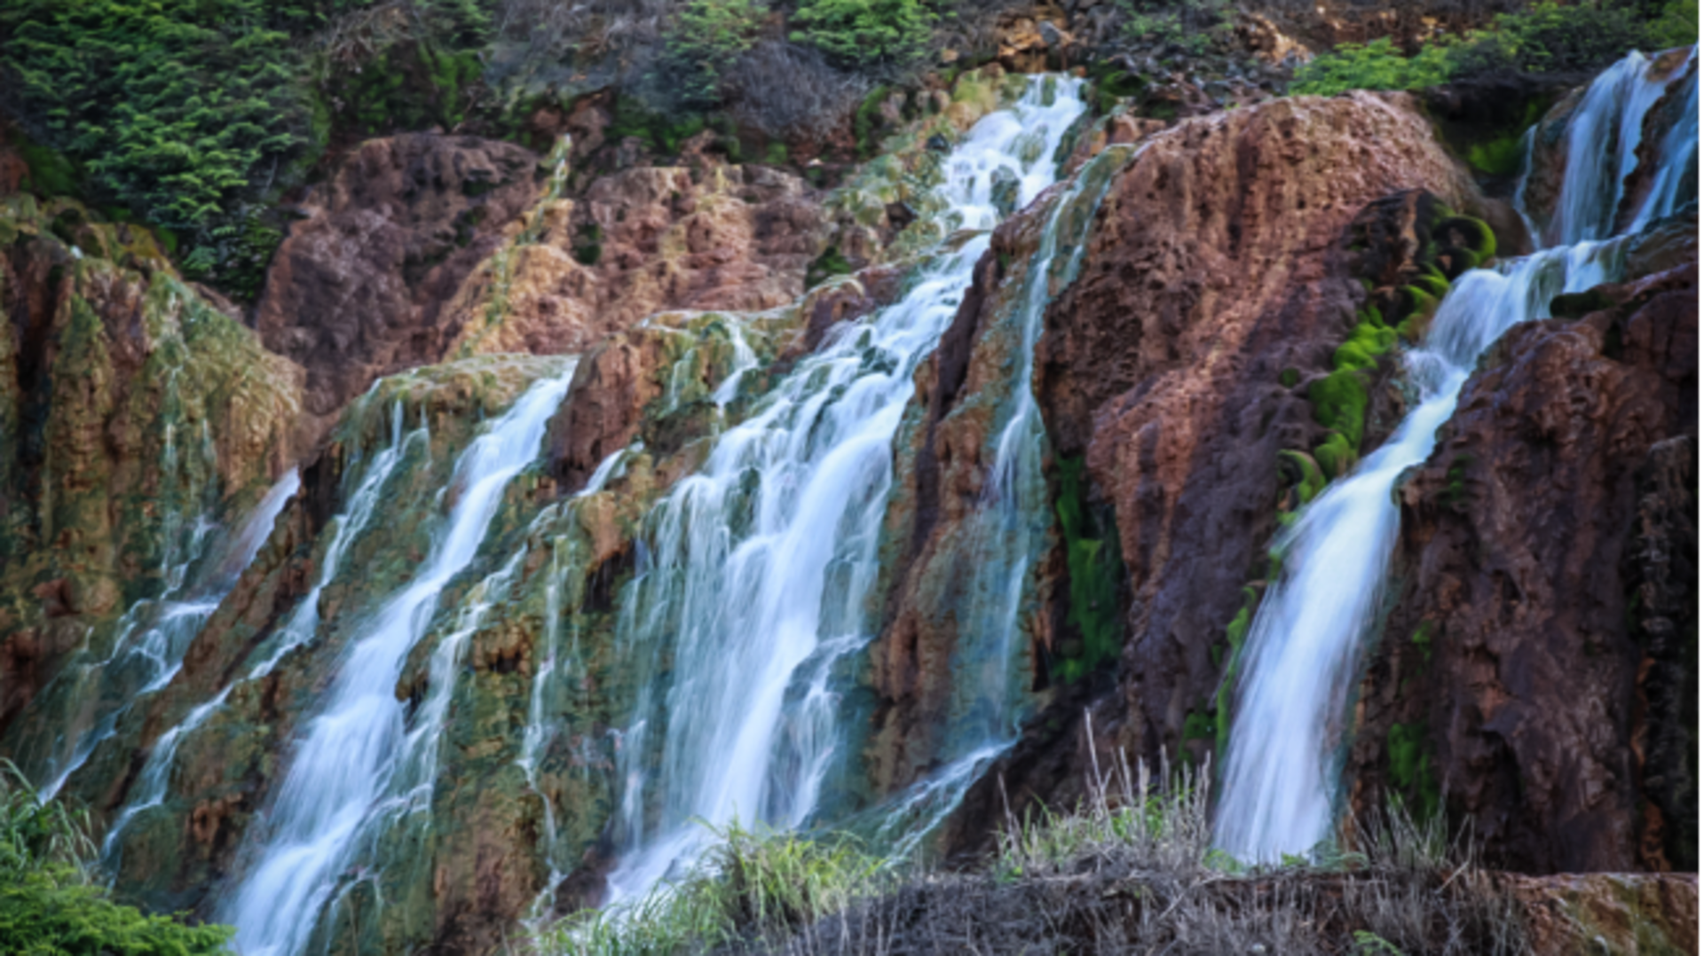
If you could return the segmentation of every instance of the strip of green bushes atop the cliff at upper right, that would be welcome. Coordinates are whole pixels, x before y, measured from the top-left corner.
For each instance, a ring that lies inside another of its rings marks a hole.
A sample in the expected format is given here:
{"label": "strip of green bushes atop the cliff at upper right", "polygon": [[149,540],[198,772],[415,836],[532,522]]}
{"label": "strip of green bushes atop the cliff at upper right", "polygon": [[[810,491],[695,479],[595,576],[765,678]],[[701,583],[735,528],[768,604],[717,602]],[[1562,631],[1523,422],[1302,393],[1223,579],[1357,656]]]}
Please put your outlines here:
{"label": "strip of green bushes atop the cliff at upper right", "polygon": [[1348,43],[1297,72],[1293,94],[1416,90],[1496,70],[1597,70],[1629,49],[1684,46],[1704,32],[1704,0],[1668,0],[1655,19],[1636,7],[1539,3],[1501,14],[1488,31],[1440,36],[1406,56],[1389,39]]}

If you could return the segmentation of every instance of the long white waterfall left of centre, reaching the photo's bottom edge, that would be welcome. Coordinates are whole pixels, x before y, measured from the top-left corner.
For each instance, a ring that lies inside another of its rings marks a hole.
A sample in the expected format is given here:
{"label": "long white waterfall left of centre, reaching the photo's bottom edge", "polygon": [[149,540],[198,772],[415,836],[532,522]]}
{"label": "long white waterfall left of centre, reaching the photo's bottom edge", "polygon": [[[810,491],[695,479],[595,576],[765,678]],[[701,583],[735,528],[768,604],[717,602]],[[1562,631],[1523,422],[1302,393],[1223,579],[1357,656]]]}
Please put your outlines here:
{"label": "long white waterfall left of centre, reaching the photo's bottom edge", "polygon": [[[320,712],[303,726],[271,808],[250,826],[247,869],[220,910],[237,925],[235,946],[245,956],[302,951],[360,837],[387,809],[380,803],[399,765],[426,746],[419,728],[435,721],[419,719],[407,734],[395,699],[404,661],[431,624],[440,593],[474,561],[509,479],[538,455],[571,377],[573,366],[533,383],[462,452],[441,492],[452,504],[431,552],[363,625]],[[435,659],[433,697],[448,695],[440,688],[453,683],[446,677]]]}

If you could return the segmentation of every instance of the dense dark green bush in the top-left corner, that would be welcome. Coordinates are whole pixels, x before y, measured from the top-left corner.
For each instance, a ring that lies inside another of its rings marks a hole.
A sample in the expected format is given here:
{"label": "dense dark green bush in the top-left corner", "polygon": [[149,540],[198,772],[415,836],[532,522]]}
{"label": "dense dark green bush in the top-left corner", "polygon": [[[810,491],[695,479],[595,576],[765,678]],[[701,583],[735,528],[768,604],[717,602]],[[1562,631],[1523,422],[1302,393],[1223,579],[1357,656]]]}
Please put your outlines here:
{"label": "dense dark green bush in the top-left corner", "polygon": [[[15,0],[0,9],[5,106],[92,184],[198,230],[308,145],[310,111],[266,0]],[[288,15],[285,15],[288,14]]]}

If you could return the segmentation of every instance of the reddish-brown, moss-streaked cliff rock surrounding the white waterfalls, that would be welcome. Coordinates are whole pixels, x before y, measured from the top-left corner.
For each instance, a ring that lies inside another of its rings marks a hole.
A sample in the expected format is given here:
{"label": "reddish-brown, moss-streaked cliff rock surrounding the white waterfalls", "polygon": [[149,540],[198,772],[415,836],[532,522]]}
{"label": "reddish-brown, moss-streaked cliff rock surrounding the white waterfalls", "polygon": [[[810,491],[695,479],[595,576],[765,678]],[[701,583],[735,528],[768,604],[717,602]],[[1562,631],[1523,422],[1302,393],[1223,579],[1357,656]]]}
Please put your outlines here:
{"label": "reddish-brown, moss-streaked cliff rock surrounding the white waterfalls", "polygon": [[[651,506],[801,356],[895,300],[915,251],[966,240],[929,220],[929,133],[968,130],[1010,87],[966,75],[929,101],[934,126],[833,194],[697,155],[566,198],[554,164],[571,157],[375,140],[303,204],[259,336],[143,230],[0,199],[0,433],[17,436],[0,448],[0,753],[60,753],[111,716],[65,792],[107,826],[126,898],[216,915],[341,654],[465,492],[457,457],[578,354],[540,458],[397,680],[429,786],[337,878],[315,942],[494,951],[528,913],[595,905],[641,692],[617,615],[648,571]],[[1564,162],[1546,130],[1535,198]],[[1079,133],[1072,179],[995,230],[915,375],[879,634],[849,665],[857,729],[828,816],[964,750],[959,671],[990,663],[963,654],[990,600],[966,571],[988,557],[992,469],[1033,394],[1022,740],[975,765],[946,850],[985,840],[1004,799],[1070,799],[1091,748],[1222,750],[1273,537],[1402,416],[1396,349],[1450,281],[1527,242],[1408,95]],[[1394,598],[1344,767],[1355,808],[1443,808],[1520,871],[1701,866],[1699,235],[1695,213],[1658,223],[1624,283],[1511,332],[1401,482]],[[233,523],[298,460],[300,492],[181,670],[133,707],[44,690],[194,564],[194,528]],[[1537,908],[1605,895],[1527,890]],[[1695,881],[1638,891],[1680,903],[1697,900]]]}

